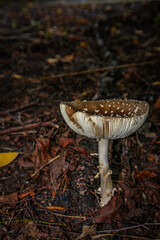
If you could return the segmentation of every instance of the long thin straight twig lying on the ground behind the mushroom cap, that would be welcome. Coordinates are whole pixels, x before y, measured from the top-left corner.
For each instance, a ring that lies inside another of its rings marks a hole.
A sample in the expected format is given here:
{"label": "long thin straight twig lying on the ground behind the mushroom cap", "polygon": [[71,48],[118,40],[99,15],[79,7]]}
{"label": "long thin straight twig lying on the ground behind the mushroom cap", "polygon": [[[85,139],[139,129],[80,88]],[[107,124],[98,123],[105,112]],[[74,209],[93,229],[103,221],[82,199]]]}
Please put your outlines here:
{"label": "long thin straight twig lying on the ground behind the mushroom cap", "polygon": [[46,76],[46,77],[41,77],[40,79],[41,80],[45,80],[45,79],[56,79],[56,78],[63,78],[63,77],[72,77],[72,76],[77,76],[77,75],[85,75],[85,74],[89,74],[89,73],[104,72],[104,71],[109,71],[109,70],[114,70],[114,69],[122,69],[122,68],[144,66],[144,65],[147,65],[147,64],[155,63],[155,62],[158,62],[158,61],[157,60],[153,60],[153,61],[146,61],[146,62],[140,62],[140,63],[122,64],[122,65],[117,65],[117,66],[109,66],[109,67],[104,67],[104,68],[85,70],[85,71],[81,71],[81,72],[63,73],[63,74],[59,74],[57,76]]}

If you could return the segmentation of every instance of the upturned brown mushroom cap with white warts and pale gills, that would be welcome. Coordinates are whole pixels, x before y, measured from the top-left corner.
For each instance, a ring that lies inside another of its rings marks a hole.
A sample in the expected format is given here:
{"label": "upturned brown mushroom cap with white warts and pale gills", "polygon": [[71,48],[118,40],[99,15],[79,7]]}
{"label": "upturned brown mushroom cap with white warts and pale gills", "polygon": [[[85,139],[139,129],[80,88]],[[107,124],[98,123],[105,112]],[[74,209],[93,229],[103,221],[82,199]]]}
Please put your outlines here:
{"label": "upturned brown mushroom cap with white warts and pale gills", "polygon": [[136,100],[66,102],[61,113],[75,132],[91,138],[116,139],[135,132],[145,121],[149,105]]}

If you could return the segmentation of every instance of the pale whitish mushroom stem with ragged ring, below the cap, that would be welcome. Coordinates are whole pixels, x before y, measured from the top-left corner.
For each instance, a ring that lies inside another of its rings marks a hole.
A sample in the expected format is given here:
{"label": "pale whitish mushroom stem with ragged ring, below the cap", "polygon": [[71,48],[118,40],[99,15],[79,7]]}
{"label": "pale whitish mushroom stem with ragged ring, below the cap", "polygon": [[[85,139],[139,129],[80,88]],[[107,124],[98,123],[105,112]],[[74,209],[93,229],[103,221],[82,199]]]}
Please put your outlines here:
{"label": "pale whitish mushroom stem with ragged ring, below the cap", "polygon": [[113,185],[108,161],[108,139],[98,141],[98,155],[101,178],[101,206],[106,205],[113,194]]}

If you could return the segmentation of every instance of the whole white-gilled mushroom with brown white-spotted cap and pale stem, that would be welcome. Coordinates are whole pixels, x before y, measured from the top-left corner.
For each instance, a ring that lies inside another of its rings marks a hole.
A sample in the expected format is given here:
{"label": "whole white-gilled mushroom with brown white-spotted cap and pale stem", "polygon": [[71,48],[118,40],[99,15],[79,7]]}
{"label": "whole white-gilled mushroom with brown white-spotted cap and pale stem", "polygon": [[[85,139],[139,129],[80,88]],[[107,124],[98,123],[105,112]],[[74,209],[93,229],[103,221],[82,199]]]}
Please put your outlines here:
{"label": "whole white-gilled mushroom with brown white-spotted cap and pale stem", "polygon": [[144,101],[119,99],[72,101],[62,102],[60,110],[73,131],[98,139],[101,206],[104,206],[113,196],[108,140],[134,133],[145,121],[149,105]]}

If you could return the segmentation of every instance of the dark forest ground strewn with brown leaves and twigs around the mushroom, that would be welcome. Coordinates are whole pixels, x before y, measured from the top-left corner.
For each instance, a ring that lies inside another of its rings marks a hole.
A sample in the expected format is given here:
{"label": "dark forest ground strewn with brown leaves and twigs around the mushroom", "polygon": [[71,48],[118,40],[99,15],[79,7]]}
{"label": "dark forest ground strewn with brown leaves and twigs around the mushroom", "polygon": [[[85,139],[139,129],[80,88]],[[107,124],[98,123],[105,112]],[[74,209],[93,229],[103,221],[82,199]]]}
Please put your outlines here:
{"label": "dark forest ground strewn with brown leaves and twigs around the mushroom", "polygon": [[[160,239],[160,1],[0,4],[0,239]],[[136,99],[149,116],[110,141],[100,208],[97,141],[61,101]]]}

